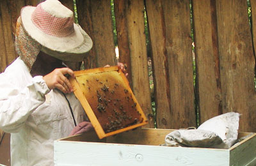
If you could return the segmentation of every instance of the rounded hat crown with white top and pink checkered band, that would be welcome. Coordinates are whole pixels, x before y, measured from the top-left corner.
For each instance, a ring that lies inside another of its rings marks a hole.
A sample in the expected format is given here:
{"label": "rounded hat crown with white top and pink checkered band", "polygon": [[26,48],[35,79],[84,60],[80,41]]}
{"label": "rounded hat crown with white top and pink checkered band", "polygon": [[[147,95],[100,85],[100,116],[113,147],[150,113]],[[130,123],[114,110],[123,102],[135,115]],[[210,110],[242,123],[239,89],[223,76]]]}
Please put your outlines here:
{"label": "rounded hat crown with white top and pink checkered band", "polygon": [[38,4],[31,21],[40,31],[51,36],[65,37],[74,33],[73,12],[57,0]]}

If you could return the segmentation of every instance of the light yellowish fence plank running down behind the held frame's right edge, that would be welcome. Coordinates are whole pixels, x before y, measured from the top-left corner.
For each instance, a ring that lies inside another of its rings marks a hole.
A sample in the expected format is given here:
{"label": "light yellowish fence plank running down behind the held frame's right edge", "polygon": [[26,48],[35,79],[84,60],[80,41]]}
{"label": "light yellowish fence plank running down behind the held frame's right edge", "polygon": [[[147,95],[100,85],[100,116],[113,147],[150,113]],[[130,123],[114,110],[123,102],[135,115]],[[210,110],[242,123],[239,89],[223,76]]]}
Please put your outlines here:
{"label": "light yellowish fence plank running down behind the held frame's right edge", "polygon": [[[152,107],[148,81],[143,0],[127,1],[127,32],[131,56],[132,90],[143,112],[148,117],[152,115]],[[154,127],[153,121],[150,121],[147,127]]]}

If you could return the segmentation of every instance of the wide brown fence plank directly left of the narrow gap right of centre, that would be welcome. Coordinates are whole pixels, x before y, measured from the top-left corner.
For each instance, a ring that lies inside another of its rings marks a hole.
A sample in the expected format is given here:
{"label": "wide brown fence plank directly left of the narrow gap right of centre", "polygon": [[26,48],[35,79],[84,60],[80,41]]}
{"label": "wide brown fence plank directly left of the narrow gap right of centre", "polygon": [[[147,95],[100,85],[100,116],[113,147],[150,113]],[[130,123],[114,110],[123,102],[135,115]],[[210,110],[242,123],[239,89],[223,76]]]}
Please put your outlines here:
{"label": "wide brown fence plank directly left of the narrow gap right of centre", "polygon": [[[164,0],[163,11],[171,106],[170,112],[165,114],[172,117],[171,128],[187,128],[196,124],[189,1]],[[157,117],[157,120],[162,118]],[[162,123],[167,122],[162,120]]]}

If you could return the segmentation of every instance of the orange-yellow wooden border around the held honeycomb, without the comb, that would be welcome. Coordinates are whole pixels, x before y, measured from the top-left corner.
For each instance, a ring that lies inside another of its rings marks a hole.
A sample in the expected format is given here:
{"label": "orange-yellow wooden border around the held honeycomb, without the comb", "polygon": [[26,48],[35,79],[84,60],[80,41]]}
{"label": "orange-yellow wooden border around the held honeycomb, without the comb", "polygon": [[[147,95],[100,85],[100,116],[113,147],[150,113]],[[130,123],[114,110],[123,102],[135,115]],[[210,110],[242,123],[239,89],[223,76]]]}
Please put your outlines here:
{"label": "orange-yellow wooden border around the held honeycomb, without the comb", "polygon": [[[108,68],[94,68],[94,69],[90,69],[90,70],[81,70],[81,71],[74,72],[74,74],[75,74],[75,77],[79,77],[81,75],[85,75],[85,74],[88,74],[88,73],[101,73],[101,72],[111,72],[111,71],[116,71],[120,74],[120,77],[122,77],[122,80],[124,81],[125,86],[127,86],[127,90],[132,95],[132,99],[134,100],[134,102],[138,103],[134,94],[132,93],[131,88],[129,87],[128,80],[126,79],[124,73],[121,70],[118,69],[118,66],[111,66],[111,67],[108,67]],[[77,99],[81,102],[81,105],[83,106],[84,111],[86,112],[87,116],[89,117],[89,119],[90,119],[90,121],[91,121],[99,139],[102,139],[104,137],[108,137],[110,135],[115,135],[117,133],[125,132],[127,130],[132,130],[134,128],[137,128],[139,126],[143,126],[143,125],[148,123],[147,117],[145,116],[144,112],[141,110],[140,105],[137,104],[136,109],[138,110],[138,112],[140,112],[140,115],[143,118],[143,121],[141,121],[140,123],[131,125],[131,126],[127,126],[125,128],[115,130],[113,132],[105,133],[101,124],[99,123],[99,120],[95,116],[95,113],[93,112],[92,108],[90,107],[90,104],[88,103],[88,100],[86,100],[86,97],[84,96],[83,91],[81,90],[81,87],[79,86],[79,83],[77,82],[76,78],[75,79],[70,78],[70,83],[73,86],[74,94],[76,95]]]}

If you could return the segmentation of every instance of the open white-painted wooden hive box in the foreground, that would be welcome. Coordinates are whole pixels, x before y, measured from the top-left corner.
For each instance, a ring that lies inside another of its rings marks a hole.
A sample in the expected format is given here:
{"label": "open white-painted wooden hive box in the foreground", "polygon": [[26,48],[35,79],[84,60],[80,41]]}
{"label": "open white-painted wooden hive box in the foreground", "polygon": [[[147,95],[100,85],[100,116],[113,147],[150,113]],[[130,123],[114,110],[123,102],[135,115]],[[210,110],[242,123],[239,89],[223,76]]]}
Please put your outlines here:
{"label": "open white-painted wooden hive box in the foreground", "polygon": [[159,146],[168,129],[138,128],[99,139],[95,132],[54,141],[54,163],[63,165],[255,166],[256,133],[230,149]]}

